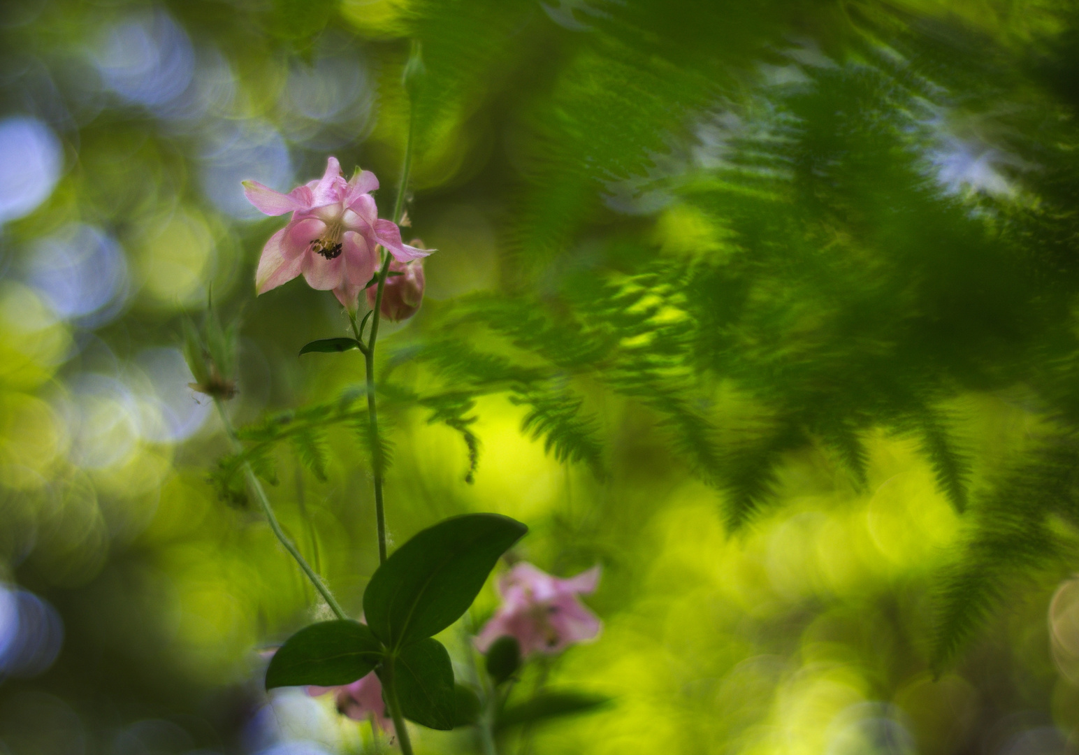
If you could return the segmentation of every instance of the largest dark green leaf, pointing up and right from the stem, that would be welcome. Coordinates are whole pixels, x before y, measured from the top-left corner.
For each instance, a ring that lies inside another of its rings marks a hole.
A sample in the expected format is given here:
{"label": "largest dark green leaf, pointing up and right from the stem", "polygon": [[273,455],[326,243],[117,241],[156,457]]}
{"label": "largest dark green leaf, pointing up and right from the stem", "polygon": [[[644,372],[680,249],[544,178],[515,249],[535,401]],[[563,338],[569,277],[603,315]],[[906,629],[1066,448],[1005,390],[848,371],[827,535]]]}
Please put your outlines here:
{"label": "largest dark green leaf, pointing up and right from the stem", "polygon": [[380,566],[364,593],[364,614],[390,648],[441,632],[476,598],[498,556],[528,531],[500,514],[465,514],[419,532]]}

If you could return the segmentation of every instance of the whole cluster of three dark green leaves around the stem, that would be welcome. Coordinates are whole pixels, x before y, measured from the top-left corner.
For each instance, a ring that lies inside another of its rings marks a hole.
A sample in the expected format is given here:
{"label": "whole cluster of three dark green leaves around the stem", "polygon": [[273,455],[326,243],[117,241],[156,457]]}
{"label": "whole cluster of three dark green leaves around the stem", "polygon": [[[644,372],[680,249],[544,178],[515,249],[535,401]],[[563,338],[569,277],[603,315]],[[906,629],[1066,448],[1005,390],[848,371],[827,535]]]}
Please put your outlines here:
{"label": "whole cluster of three dark green leaves around the stem", "polygon": [[450,656],[432,635],[468,609],[498,557],[527,530],[506,516],[466,514],[419,532],[371,577],[364,593],[368,623],[324,621],[300,630],[270,661],[267,689],[334,687],[374,671],[396,689],[406,718],[453,728],[468,705],[459,702]]}

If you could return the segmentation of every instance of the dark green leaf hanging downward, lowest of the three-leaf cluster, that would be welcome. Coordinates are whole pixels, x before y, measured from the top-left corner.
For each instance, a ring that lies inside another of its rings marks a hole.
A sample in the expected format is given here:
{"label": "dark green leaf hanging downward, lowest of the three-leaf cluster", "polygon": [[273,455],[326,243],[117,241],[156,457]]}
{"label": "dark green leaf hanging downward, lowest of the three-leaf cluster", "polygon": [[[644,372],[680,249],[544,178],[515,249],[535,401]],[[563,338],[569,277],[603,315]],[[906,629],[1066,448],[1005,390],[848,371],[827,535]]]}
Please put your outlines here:
{"label": "dark green leaf hanging downward, lowest of the three-leaf cluster", "polygon": [[[383,678],[384,670],[380,672]],[[394,660],[401,715],[431,729],[452,729],[457,699],[450,653],[434,637],[405,648]]]}

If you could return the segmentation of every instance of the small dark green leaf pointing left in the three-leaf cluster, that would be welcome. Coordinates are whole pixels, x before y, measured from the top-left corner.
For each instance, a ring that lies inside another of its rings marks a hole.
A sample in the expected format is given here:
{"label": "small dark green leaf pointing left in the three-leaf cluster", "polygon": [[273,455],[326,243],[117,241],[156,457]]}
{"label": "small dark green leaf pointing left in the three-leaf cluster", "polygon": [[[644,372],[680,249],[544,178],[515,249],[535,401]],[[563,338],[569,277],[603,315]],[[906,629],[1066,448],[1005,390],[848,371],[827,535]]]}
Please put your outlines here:
{"label": "small dark green leaf pointing left in the three-leaf cluster", "polygon": [[366,676],[382,660],[382,646],[366,625],[342,619],[304,626],[274,653],[267,689],[333,687]]}

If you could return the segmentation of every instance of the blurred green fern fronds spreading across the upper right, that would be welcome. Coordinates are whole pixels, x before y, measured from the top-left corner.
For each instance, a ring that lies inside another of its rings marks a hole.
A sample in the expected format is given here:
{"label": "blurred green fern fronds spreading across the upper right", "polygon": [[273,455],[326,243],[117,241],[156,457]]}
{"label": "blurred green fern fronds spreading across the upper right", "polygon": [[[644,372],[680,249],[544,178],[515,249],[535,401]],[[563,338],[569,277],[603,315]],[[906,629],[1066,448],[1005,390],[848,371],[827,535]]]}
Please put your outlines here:
{"label": "blurred green fern fronds spreading across the upper right", "polygon": [[[477,402],[502,395],[554,458],[599,475],[595,399],[616,395],[716,490],[730,529],[762,518],[808,447],[864,490],[868,433],[911,436],[969,510],[941,593],[951,658],[1070,537],[1051,526],[1070,522],[1069,494],[1046,476],[1063,467],[972,496],[973,451],[942,408],[1024,386],[1042,414],[1079,417],[1074,44],[1052,31],[1070,16],[1024,31],[1032,46],[874,4],[818,4],[808,27],[778,1],[565,4],[563,33],[518,0],[409,3],[419,162],[501,119],[507,250],[498,293],[382,349],[380,409],[460,433],[470,482]],[[964,154],[985,170],[950,183]],[[315,427],[353,424],[386,456],[357,396],[247,429],[219,487],[235,495],[242,458],[271,475],[285,440],[324,474]]]}

